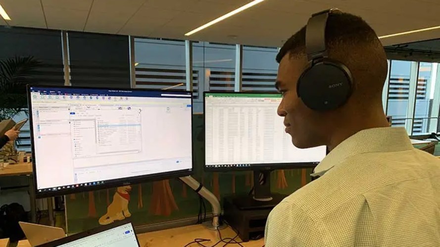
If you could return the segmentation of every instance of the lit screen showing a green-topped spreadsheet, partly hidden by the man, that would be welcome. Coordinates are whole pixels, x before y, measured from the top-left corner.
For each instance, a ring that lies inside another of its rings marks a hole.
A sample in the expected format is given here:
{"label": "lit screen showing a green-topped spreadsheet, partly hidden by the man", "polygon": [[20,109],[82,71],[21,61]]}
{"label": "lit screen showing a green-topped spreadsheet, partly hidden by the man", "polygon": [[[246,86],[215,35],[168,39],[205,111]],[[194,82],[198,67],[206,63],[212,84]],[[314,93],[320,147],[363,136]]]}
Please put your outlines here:
{"label": "lit screen showing a green-topped spreadsheet, partly hidden by the man", "polygon": [[205,168],[275,169],[311,167],[326,147],[298,149],[277,115],[279,93],[204,95]]}

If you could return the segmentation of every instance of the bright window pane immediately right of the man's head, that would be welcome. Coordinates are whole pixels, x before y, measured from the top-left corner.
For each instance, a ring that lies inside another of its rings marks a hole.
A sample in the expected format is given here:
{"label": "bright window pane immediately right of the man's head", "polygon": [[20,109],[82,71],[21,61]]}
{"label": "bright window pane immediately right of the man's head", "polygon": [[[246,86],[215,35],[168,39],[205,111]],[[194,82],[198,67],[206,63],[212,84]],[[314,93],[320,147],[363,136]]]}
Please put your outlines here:
{"label": "bright window pane immediately right of the man's head", "polygon": [[410,100],[411,61],[391,60],[388,88],[387,115],[392,116],[392,126],[406,126]]}

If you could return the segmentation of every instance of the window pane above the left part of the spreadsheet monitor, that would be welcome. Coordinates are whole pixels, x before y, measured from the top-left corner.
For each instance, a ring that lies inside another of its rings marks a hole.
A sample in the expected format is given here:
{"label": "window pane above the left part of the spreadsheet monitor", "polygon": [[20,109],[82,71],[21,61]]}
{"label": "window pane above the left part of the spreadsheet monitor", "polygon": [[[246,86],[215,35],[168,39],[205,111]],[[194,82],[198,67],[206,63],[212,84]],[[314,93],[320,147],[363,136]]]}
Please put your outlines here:
{"label": "window pane above the left part of the spreadsheet monitor", "polygon": [[[193,69],[200,91],[234,91],[235,44],[193,43]],[[196,85],[194,86],[196,88]],[[202,101],[200,95],[196,101]]]}

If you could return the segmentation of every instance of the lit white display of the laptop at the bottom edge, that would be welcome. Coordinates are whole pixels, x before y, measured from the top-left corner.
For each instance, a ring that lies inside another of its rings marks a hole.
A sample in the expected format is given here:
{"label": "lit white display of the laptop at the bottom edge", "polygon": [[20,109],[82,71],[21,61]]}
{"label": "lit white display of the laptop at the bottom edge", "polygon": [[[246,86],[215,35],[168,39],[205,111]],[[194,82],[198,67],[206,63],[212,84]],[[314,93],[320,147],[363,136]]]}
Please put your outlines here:
{"label": "lit white display of the laptop at the bottom edge", "polygon": [[138,247],[131,223],[120,225],[57,247]]}

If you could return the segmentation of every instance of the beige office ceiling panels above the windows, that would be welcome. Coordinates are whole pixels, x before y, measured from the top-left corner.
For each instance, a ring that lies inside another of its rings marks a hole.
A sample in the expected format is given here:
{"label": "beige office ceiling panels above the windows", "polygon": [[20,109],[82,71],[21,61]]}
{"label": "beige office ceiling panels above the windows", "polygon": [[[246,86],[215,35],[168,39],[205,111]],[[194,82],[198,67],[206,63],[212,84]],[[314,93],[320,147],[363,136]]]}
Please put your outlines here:
{"label": "beige office ceiling panels above the windows", "polygon": [[[0,25],[185,39],[185,33],[251,0],[0,0]],[[309,15],[331,7],[362,16],[378,36],[440,25],[439,0],[265,0],[190,36],[192,40],[281,46]],[[440,29],[382,40],[440,38]]]}

